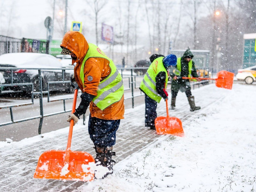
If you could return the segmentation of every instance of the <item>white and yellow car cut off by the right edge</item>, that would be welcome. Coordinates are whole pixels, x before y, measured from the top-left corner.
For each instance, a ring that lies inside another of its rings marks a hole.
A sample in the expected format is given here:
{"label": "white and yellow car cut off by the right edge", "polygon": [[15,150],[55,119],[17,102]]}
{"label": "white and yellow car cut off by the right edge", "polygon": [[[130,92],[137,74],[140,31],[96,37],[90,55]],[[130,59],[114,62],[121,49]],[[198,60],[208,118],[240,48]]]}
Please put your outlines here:
{"label": "white and yellow car cut off by the right edge", "polygon": [[245,81],[247,84],[251,84],[254,81],[256,77],[256,65],[247,67],[245,69],[238,69],[238,73],[236,75],[236,78],[238,81]]}

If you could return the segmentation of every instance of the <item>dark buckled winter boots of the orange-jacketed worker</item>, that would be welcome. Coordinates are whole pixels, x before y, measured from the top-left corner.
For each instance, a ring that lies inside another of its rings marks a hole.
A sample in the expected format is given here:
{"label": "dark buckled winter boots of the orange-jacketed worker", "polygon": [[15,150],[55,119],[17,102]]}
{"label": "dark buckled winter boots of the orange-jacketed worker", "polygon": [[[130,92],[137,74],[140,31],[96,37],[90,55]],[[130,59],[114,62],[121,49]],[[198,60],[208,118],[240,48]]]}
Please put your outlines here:
{"label": "dark buckled winter boots of the orange-jacketed worker", "polygon": [[[115,163],[114,160],[112,160],[112,155],[115,155],[115,152],[113,152],[113,146],[110,147],[94,147],[96,151],[96,158],[95,163],[97,165],[102,165],[103,167],[107,167],[109,169],[109,172],[104,175],[106,177],[108,174],[113,173],[113,165]],[[98,163],[100,162],[100,163]]]}

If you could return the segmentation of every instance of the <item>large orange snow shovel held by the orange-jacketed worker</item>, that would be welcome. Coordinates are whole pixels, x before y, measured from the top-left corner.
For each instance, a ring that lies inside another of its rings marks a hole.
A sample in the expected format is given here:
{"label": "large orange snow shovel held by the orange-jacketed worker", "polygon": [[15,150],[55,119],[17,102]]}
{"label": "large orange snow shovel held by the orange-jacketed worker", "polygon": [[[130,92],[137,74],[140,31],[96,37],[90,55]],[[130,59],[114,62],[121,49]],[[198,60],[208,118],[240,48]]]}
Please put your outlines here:
{"label": "large orange snow shovel held by the orange-jacketed worker", "polygon": [[[75,88],[72,113],[75,112],[78,85],[71,81]],[[34,178],[39,179],[62,179],[75,181],[92,181],[94,179],[94,158],[91,154],[83,151],[71,151],[71,138],[74,121],[70,121],[69,136],[66,150],[45,151],[38,160]]]}

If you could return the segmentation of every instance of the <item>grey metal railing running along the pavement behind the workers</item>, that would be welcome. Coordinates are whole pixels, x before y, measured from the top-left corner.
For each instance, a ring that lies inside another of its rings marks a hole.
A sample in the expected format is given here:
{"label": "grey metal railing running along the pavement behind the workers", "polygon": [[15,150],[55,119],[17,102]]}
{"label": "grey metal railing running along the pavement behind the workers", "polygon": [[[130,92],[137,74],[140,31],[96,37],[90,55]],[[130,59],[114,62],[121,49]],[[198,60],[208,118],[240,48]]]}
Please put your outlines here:
{"label": "grey metal railing running along the pavement behind the workers", "polygon": [[[50,85],[58,84],[58,83],[70,83],[70,80],[67,80],[67,78],[66,78],[65,71],[66,70],[73,70],[72,68],[54,68],[54,69],[52,69],[52,68],[50,68],[50,69],[40,68],[39,69],[39,68],[0,67],[0,71],[1,70],[6,70],[6,69],[11,71],[11,82],[9,84],[0,84],[0,88],[1,87],[14,87],[14,86],[31,87],[31,101],[25,102],[25,103],[19,103],[19,104],[16,104],[16,105],[0,106],[0,110],[1,109],[9,109],[10,110],[10,119],[11,119],[11,121],[0,123],[0,127],[10,125],[10,124],[14,124],[14,123],[29,121],[29,120],[32,120],[32,119],[40,119],[39,127],[38,127],[38,134],[41,135],[43,118],[53,116],[53,115],[57,115],[57,114],[67,113],[67,112],[71,111],[71,109],[68,109],[68,110],[66,109],[66,100],[73,99],[73,96],[72,97],[61,97],[61,98],[58,98],[58,99],[51,99],[50,98]],[[134,98],[144,95],[144,93],[142,93],[142,91],[140,91],[140,90],[138,91],[138,94],[135,95],[135,92],[136,92],[135,90],[139,89],[139,84],[142,81],[144,75],[134,75],[134,69],[145,70],[147,68],[146,67],[141,67],[141,68],[138,68],[138,67],[136,67],[136,68],[134,68],[134,67],[118,68],[119,73],[121,74],[121,76],[123,78],[123,81],[125,81],[128,84],[127,86],[125,86],[125,89],[124,89],[125,90],[125,100],[131,99],[133,108],[134,108]],[[38,71],[37,77],[39,79],[38,91],[34,90],[35,85],[33,84],[33,82],[14,83],[13,73],[16,70],[37,70]],[[46,82],[47,86],[43,87],[42,71],[44,71],[44,70],[62,70],[62,80],[61,81],[47,81]],[[193,86],[193,89],[194,89],[195,85],[200,86],[200,85],[202,85],[206,82],[208,82],[208,81],[191,82],[191,85]],[[124,84],[124,85],[126,85],[126,84]],[[171,84],[168,83],[167,90],[170,90],[170,89],[171,89]],[[127,91],[130,91],[131,96],[126,97]],[[47,94],[47,102],[63,101],[63,110],[57,111],[55,113],[44,114],[43,94]],[[39,97],[40,115],[36,115],[36,116],[33,116],[33,117],[29,117],[29,118],[14,120],[13,108],[21,107],[21,106],[34,105],[34,95],[38,95],[38,97]],[[0,97],[1,97],[1,95],[0,95]],[[85,125],[85,115],[83,115],[83,122],[84,122],[84,125]]]}

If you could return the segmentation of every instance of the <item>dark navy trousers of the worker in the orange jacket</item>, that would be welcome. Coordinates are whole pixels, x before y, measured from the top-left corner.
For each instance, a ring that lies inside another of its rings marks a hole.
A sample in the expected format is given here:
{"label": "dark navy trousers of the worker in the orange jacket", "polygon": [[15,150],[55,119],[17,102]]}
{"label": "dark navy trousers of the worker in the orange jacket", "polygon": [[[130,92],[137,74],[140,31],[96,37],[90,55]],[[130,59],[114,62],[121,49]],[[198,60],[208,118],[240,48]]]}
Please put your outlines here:
{"label": "dark navy trousers of the worker in the orange jacket", "polygon": [[105,120],[96,117],[89,117],[88,131],[90,138],[97,147],[110,147],[115,145],[116,131],[119,127],[120,119]]}

